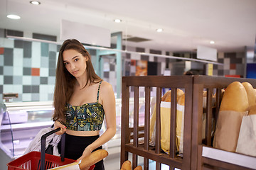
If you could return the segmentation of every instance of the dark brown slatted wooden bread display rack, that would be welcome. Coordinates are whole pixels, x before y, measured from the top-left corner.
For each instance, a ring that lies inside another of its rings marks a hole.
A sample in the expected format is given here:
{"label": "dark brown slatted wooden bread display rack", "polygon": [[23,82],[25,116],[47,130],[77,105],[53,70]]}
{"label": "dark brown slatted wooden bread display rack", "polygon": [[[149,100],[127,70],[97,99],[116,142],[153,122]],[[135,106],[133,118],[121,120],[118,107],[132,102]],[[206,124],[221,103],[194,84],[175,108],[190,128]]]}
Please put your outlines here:
{"label": "dark brown slatted wooden bread display rack", "polygon": [[[122,132],[120,164],[129,159],[132,153],[132,169],[138,166],[138,156],[143,157],[144,170],[149,169],[150,160],[156,162],[154,169],[161,169],[161,164],[170,169],[256,169],[248,162],[256,162],[250,157],[234,152],[225,152],[212,146],[212,120],[217,120],[221,101],[221,90],[233,81],[247,81],[256,88],[256,79],[195,76],[146,76],[122,78]],[[156,141],[149,145],[150,104],[152,89],[156,89]],[[183,123],[183,157],[176,155],[176,93],[171,93],[171,129],[170,154],[161,151],[160,103],[163,89],[183,89],[185,93],[185,111]],[[139,94],[144,91],[144,125],[139,126]],[[206,108],[203,108],[203,91],[207,91]],[[133,94],[132,94],[133,93]],[[132,94],[132,95],[131,95]],[[212,106],[215,94],[215,106]],[[133,115],[129,115],[130,97],[134,98]],[[203,113],[206,113],[206,125],[203,127]],[[133,123],[130,123],[132,119]],[[133,125],[132,125],[133,124]],[[202,130],[205,128],[205,138]],[[221,155],[240,159],[238,164],[221,159]],[[244,161],[244,162],[243,162]]]}

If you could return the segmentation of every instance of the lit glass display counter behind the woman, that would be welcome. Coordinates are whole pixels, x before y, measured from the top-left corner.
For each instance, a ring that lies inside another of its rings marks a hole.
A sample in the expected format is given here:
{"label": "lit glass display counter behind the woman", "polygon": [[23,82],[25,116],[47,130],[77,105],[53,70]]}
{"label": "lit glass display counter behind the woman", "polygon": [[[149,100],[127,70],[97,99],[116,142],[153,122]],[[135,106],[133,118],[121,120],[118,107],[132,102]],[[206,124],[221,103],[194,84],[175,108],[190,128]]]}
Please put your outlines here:
{"label": "lit glass display counter behind the woman", "polygon": [[[130,100],[130,115],[133,115],[133,100]],[[139,98],[139,110],[144,109],[144,98]],[[0,169],[7,169],[6,164],[11,160],[21,157],[28,147],[29,143],[43,128],[53,125],[53,103],[46,102],[20,102],[20,103],[2,103],[0,102]],[[116,99],[117,113],[117,133],[103,145],[103,148],[120,147],[121,145],[121,98]],[[140,117],[139,117],[140,118]],[[140,118],[144,124],[144,117]],[[131,122],[132,124],[133,122]],[[102,134],[106,130],[105,123],[102,125]],[[3,157],[6,157],[5,162]],[[1,166],[4,165],[4,168]]]}

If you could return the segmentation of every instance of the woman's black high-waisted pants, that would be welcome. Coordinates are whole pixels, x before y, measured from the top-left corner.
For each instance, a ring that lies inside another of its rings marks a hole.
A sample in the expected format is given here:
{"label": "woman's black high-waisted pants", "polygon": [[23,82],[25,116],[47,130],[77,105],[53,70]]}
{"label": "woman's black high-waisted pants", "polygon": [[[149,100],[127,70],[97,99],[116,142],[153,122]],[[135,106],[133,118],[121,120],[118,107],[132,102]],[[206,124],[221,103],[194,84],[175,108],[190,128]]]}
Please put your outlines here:
{"label": "woman's black high-waisted pants", "polygon": [[[90,145],[92,142],[97,140],[100,135],[97,136],[90,136],[90,137],[80,137],[80,136],[73,136],[65,134],[65,158],[68,159],[78,159],[82,156],[82,152],[84,152],[85,148]],[[59,142],[58,149],[60,151],[61,148],[61,142]],[[101,147],[98,147],[95,150],[102,149]],[[95,151],[94,150],[94,151]],[[100,162],[97,162],[95,164],[95,170],[104,170],[104,164],[103,160]]]}

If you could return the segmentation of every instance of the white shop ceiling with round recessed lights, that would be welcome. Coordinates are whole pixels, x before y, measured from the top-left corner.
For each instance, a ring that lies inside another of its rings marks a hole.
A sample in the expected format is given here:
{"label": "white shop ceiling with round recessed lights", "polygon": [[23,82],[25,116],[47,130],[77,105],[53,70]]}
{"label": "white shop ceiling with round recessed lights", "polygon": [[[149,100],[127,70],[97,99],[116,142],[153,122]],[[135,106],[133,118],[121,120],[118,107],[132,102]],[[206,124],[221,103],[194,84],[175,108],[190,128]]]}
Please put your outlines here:
{"label": "white shop ceiling with round recessed lights", "polygon": [[[256,0],[40,1],[40,6],[33,6],[29,0],[1,0],[0,28],[59,38],[60,21],[65,19],[150,39],[123,45],[154,50],[193,52],[197,45],[204,45],[221,52],[241,52],[245,46],[255,46]],[[9,13],[21,19],[6,18]],[[122,23],[114,23],[114,18],[121,18]],[[164,32],[156,33],[156,28]],[[210,45],[210,40],[215,44]]]}

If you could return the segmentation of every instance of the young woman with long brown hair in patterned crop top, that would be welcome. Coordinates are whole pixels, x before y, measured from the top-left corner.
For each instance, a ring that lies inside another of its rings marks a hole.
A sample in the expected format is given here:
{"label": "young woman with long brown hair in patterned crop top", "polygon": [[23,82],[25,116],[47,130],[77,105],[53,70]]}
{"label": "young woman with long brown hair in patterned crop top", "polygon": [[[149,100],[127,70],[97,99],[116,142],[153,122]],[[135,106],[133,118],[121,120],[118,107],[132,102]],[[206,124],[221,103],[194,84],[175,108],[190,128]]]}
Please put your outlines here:
{"label": "young woman with long brown hair in patterned crop top", "polygon": [[[54,127],[61,128],[56,134],[66,133],[66,158],[80,161],[114,137],[114,91],[95,74],[90,54],[78,40],[65,40],[60,47],[53,101]],[[107,130],[100,136],[104,117]],[[96,169],[104,169],[103,161]]]}

